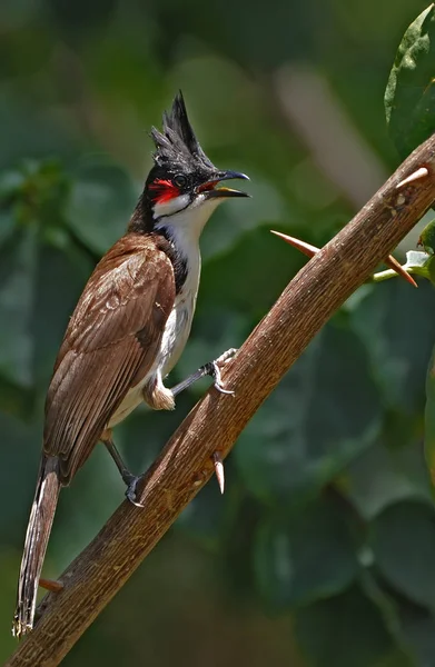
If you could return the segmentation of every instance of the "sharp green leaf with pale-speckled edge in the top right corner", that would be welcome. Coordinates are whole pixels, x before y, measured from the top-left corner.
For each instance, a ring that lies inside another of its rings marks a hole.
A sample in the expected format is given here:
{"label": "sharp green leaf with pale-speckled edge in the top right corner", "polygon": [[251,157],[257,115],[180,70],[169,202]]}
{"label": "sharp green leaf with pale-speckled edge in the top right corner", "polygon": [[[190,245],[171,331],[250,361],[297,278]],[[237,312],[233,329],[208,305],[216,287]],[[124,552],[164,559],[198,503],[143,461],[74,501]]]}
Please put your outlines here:
{"label": "sharp green leaf with pale-speckled edge in the top right corner", "polygon": [[405,158],[435,130],[435,9],[406,30],[385,91],[389,135]]}

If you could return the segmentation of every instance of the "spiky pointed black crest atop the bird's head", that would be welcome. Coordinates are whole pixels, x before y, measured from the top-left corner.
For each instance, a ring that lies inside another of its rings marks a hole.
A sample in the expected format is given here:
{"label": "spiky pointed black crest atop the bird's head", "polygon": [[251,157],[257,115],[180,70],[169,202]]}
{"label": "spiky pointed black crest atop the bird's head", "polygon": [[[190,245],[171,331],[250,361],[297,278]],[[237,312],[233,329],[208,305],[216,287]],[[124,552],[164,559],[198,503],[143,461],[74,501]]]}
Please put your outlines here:
{"label": "spiky pointed black crest atop the bird's head", "polygon": [[189,122],[181,91],[176,96],[172,109],[164,113],[164,131],[151,129],[156,143],[154,160],[157,166],[168,168],[182,165],[190,169],[216,170],[212,162],[199,146],[194,129]]}

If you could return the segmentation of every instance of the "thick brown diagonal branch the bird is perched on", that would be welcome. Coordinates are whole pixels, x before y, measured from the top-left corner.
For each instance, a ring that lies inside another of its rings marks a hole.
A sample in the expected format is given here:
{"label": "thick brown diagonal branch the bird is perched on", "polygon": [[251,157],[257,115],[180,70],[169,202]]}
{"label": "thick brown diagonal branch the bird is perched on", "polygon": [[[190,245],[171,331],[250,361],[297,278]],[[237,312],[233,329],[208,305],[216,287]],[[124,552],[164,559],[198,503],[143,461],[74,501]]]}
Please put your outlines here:
{"label": "thick brown diagonal branch the bird is perched on", "polygon": [[[426,178],[397,188],[422,166],[428,168]],[[145,509],[127,501],[117,509],[61,576],[63,590],[42,600],[42,618],[7,667],[59,665],[212,475],[214,452],[225,458],[317,331],[434,199],[435,137],[414,151],[287,286],[225,370],[225,384],[235,396],[211,389],[191,410],[146,477],[140,498]]]}

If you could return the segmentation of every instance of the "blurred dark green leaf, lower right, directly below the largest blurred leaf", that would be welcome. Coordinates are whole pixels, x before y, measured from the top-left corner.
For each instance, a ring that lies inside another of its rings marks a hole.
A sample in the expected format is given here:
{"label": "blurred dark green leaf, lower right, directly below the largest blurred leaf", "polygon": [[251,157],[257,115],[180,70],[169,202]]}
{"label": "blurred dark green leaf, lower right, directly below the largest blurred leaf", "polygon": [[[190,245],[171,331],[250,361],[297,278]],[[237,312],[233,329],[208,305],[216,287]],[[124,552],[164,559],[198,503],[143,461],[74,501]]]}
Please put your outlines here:
{"label": "blurred dark green leaf, lower right, directly below the largest blurred leaf", "polygon": [[291,517],[264,519],[254,564],[263,599],[279,611],[340,593],[358,571],[346,518],[329,499]]}

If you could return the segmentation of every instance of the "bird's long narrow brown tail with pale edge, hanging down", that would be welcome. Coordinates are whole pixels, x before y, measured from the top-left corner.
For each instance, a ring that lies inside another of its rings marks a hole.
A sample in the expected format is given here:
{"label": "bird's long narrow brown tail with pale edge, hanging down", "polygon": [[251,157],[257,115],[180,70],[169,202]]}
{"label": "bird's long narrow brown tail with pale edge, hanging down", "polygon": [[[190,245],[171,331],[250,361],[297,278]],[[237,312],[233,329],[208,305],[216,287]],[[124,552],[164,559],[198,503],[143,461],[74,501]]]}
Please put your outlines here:
{"label": "bird's long narrow brown tail with pale edge, hanging down", "polygon": [[37,490],[26,534],[18,580],[17,609],[12,635],[20,638],[33,627],[39,577],[58,504],[60,481],[58,459],[42,456]]}

